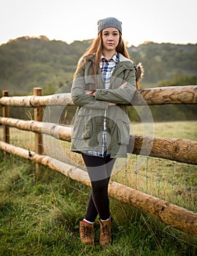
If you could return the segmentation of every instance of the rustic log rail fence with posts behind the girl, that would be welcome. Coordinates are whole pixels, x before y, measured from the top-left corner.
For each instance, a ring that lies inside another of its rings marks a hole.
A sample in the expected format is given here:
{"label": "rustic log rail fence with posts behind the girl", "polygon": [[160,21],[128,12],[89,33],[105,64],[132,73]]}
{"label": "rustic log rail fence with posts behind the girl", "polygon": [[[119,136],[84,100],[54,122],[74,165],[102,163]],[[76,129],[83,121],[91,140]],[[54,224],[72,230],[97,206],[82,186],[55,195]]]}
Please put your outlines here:
{"label": "rustic log rail fence with posts behind the girl", "polygon": [[[131,104],[144,105],[144,102],[147,105],[197,104],[197,86],[171,86],[136,91],[134,101]],[[9,97],[8,92],[3,91],[0,99],[0,106],[3,108],[3,116],[0,117],[0,124],[3,124],[4,138],[3,141],[0,141],[0,149],[4,151],[5,155],[15,154],[32,160],[36,163],[36,170],[39,170],[40,164],[45,165],[69,176],[75,181],[90,186],[88,173],[84,170],[42,154],[45,149],[42,146],[42,134],[66,141],[71,141],[72,136],[69,127],[42,122],[42,107],[47,105],[65,106],[73,105],[73,102],[70,94],[42,96],[42,89],[34,89],[34,95],[25,97]],[[34,120],[24,121],[9,118],[9,106],[34,108]],[[9,127],[34,132],[36,141],[35,152],[31,151],[31,154],[29,154],[30,152],[24,148],[12,146],[9,143]],[[142,143],[143,151],[141,150]],[[147,155],[148,152],[149,156],[152,157],[197,165],[197,141],[131,135],[131,144],[128,146],[128,153],[130,154]],[[146,147],[151,148],[151,150],[146,150]],[[185,208],[144,194],[115,181],[110,181],[109,195],[115,197],[117,200],[131,204],[151,214],[153,217],[157,217],[167,225],[197,236],[197,214],[193,211],[188,211]]]}

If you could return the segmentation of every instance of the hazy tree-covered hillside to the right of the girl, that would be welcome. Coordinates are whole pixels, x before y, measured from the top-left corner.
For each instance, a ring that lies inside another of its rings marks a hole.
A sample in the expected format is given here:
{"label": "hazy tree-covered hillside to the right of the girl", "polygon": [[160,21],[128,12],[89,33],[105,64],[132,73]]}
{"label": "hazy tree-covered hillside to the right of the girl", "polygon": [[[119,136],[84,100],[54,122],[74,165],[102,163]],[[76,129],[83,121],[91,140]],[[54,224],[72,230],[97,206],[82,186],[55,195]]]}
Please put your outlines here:
{"label": "hazy tree-covered hillside to the right of the girl", "polygon": [[[141,61],[145,69],[144,80],[158,83],[177,74],[196,75],[197,44],[174,45],[171,43],[144,42],[137,48],[128,48],[135,62]],[[196,83],[195,83],[196,84]]]}

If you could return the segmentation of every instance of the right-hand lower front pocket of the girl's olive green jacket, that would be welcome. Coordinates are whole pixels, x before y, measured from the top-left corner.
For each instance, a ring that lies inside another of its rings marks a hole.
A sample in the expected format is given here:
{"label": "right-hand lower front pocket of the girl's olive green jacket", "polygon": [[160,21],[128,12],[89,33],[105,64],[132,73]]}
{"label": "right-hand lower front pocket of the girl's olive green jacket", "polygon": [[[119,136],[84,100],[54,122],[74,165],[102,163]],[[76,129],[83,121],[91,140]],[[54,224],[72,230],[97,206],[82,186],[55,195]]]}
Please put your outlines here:
{"label": "right-hand lower front pocket of the girl's olive green jacket", "polygon": [[117,114],[117,143],[128,145],[130,138],[130,120],[125,113]]}

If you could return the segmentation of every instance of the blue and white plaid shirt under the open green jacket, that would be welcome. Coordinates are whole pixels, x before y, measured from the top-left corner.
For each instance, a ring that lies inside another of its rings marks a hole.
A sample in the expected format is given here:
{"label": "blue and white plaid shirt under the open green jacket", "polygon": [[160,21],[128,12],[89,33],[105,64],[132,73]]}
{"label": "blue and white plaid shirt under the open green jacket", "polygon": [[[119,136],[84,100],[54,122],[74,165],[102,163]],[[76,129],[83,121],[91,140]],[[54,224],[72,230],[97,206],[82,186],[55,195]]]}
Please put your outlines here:
{"label": "blue and white plaid shirt under the open green jacket", "polygon": [[[112,59],[109,59],[109,61],[107,61],[107,59],[105,59],[104,56],[101,56],[99,67],[101,69],[101,73],[104,78],[105,89],[109,89],[110,78],[118,62],[119,62],[119,55],[117,53],[115,53],[115,55],[112,57]],[[90,154],[96,157],[106,157],[106,151],[107,151],[107,122],[106,121],[107,121],[107,112],[105,110],[104,127],[103,127],[103,135],[102,135],[102,151],[101,152],[86,151],[85,152],[86,154]]]}

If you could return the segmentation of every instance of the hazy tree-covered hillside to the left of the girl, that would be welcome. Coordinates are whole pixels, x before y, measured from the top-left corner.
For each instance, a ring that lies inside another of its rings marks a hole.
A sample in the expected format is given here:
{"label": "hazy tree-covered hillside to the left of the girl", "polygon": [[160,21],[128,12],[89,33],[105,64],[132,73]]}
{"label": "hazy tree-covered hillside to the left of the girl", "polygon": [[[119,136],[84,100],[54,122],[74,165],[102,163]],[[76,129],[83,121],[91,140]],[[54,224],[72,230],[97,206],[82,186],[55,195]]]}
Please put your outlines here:
{"label": "hazy tree-covered hillside to the left of the girl", "polygon": [[57,90],[72,79],[77,60],[90,44],[74,41],[71,45],[47,37],[20,37],[0,46],[1,88],[12,94],[29,94],[34,87],[48,84]]}

